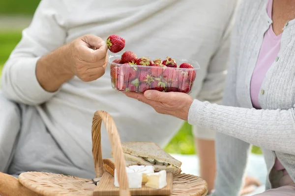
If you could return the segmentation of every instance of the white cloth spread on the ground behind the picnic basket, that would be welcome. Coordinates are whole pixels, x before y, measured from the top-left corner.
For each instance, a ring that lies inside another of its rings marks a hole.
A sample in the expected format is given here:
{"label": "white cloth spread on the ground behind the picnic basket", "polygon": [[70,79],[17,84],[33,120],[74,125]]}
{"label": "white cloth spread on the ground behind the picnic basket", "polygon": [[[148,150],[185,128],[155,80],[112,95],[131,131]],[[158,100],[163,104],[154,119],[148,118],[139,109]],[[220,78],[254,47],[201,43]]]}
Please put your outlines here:
{"label": "white cloth spread on the ground behind the picnic basket", "polygon": [[[197,155],[181,155],[181,154],[171,154],[177,160],[182,162],[181,170],[184,173],[189,173],[193,175],[200,174],[200,166],[199,166],[199,159]],[[247,173],[249,176],[257,177],[261,183],[263,184],[261,187],[256,188],[254,193],[245,195],[245,196],[253,196],[258,193],[262,193],[265,190],[265,181],[266,181],[266,165],[262,155],[251,154]]]}

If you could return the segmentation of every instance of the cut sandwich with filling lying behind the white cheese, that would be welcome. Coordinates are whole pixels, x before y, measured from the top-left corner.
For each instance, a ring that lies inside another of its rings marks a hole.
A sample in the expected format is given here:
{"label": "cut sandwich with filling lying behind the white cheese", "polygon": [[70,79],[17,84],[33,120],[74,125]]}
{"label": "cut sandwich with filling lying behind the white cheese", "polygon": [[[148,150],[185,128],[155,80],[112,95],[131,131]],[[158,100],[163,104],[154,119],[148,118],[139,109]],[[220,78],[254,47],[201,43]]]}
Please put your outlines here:
{"label": "cut sandwich with filling lying behind the white cheese", "polygon": [[[173,174],[181,172],[181,162],[165,152],[153,142],[122,143],[126,167],[131,165],[153,166],[155,172],[165,170]],[[113,152],[112,152],[113,156]],[[114,175],[115,164],[113,159],[104,159],[104,168]]]}

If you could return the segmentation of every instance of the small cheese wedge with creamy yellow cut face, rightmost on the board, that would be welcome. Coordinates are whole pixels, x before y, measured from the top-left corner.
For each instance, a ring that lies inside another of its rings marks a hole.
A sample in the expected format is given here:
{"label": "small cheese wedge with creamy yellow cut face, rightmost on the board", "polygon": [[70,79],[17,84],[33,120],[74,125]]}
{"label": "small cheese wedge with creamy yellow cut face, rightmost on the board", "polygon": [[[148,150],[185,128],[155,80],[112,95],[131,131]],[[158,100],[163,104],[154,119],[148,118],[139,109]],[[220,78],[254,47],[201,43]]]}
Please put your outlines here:
{"label": "small cheese wedge with creamy yellow cut face, rightmost on the board", "polygon": [[156,173],[147,174],[148,182],[146,187],[153,189],[162,189],[167,186],[167,173],[166,170],[162,170]]}

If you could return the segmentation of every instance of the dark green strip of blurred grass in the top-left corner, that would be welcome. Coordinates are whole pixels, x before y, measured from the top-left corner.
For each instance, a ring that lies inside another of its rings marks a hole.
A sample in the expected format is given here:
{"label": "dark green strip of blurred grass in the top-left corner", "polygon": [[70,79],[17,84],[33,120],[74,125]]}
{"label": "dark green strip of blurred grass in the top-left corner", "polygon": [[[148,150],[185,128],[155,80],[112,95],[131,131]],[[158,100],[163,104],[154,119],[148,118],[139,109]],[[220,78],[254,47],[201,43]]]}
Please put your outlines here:
{"label": "dark green strip of blurred grass in the top-left corner", "polygon": [[40,0],[0,0],[0,15],[33,15]]}

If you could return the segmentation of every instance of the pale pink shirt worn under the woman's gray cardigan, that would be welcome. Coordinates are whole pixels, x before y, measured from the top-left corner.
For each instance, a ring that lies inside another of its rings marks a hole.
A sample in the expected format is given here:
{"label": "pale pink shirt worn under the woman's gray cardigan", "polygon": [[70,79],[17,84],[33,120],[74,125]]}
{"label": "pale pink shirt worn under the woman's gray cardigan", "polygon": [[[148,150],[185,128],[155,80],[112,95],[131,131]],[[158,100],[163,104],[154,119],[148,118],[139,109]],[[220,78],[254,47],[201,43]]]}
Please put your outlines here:
{"label": "pale pink shirt worn under the woman's gray cardigan", "polygon": [[[271,18],[272,0],[268,0],[266,11],[269,18]],[[256,109],[261,109],[259,100],[258,100],[260,88],[266,76],[267,70],[275,61],[277,54],[280,50],[281,37],[282,37],[282,34],[276,35],[273,32],[272,25],[269,26],[269,28],[267,29],[264,35],[263,43],[260,49],[260,53],[256,62],[254,72],[252,74],[251,83],[250,83],[251,101],[252,101],[253,107]],[[284,170],[284,174],[288,174],[284,166],[280,163],[280,161],[277,158],[275,160],[274,169],[278,171]]]}

